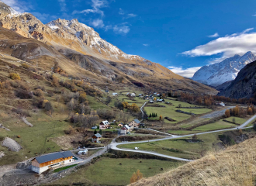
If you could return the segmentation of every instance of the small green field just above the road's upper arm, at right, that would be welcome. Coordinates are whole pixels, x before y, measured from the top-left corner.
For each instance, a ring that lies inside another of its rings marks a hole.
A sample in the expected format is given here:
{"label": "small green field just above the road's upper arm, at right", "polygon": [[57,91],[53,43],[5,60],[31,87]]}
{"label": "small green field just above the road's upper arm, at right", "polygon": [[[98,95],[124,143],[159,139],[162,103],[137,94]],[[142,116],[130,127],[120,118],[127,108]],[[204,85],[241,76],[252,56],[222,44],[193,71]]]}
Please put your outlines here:
{"label": "small green field just above the road's upper arm, at right", "polygon": [[227,128],[236,127],[236,126],[237,125],[234,125],[229,122],[223,122],[223,120],[220,120],[218,122],[210,123],[205,126],[196,127],[195,129],[192,129],[192,130],[197,132],[205,132],[205,131],[214,130],[214,129],[227,129]]}

